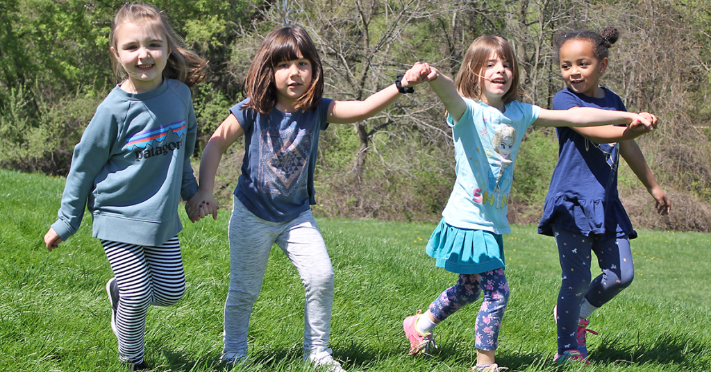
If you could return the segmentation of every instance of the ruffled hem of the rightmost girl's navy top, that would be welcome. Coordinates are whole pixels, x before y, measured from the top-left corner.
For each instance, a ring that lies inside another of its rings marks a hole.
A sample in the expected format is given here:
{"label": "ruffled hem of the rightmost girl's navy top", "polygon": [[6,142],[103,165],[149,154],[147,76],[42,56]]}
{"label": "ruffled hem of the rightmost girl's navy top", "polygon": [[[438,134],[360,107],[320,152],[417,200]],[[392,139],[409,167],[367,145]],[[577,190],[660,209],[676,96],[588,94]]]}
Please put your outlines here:
{"label": "ruffled hem of the rightmost girl's navy top", "polygon": [[545,198],[538,233],[553,236],[552,227],[583,235],[603,235],[630,239],[637,237],[619,198],[609,201],[586,200],[566,195]]}

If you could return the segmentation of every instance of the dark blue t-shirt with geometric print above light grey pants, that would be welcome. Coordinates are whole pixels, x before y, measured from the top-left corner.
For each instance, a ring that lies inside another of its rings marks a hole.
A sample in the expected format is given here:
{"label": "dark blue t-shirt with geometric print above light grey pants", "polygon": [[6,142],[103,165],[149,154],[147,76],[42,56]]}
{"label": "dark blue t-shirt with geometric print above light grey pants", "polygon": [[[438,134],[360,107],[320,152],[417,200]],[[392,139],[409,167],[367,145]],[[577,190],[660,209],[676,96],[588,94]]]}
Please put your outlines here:
{"label": "dark blue t-shirt with geometric print above light grey pants", "polygon": [[245,158],[235,196],[262,220],[293,220],[316,204],[319,133],[328,127],[328,106],[333,100],[321,98],[315,110],[274,108],[267,115],[240,110],[247,100],[230,108],[245,131]]}

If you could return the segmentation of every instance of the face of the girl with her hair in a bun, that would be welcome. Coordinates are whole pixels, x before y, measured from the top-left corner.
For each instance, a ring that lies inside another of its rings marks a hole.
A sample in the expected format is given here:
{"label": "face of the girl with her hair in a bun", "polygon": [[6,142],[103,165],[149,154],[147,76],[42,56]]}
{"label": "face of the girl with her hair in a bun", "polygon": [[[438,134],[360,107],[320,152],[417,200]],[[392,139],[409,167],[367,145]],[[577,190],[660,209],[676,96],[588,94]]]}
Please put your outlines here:
{"label": "face of the girl with her hair in a bun", "polygon": [[607,68],[607,58],[595,58],[589,41],[570,40],[560,46],[560,73],[567,87],[589,97],[604,97],[599,89],[600,76]]}

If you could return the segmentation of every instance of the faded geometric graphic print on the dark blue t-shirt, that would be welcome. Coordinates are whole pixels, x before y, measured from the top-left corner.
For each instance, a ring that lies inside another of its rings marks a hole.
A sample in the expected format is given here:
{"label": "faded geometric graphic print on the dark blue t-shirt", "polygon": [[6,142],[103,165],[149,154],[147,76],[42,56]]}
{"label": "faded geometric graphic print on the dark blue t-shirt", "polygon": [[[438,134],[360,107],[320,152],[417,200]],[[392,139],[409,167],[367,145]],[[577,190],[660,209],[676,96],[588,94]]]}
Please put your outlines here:
{"label": "faded geometric graphic print on the dark blue t-shirt", "polygon": [[306,188],[303,175],[309,163],[311,136],[306,129],[287,128],[262,132],[257,185],[284,196]]}

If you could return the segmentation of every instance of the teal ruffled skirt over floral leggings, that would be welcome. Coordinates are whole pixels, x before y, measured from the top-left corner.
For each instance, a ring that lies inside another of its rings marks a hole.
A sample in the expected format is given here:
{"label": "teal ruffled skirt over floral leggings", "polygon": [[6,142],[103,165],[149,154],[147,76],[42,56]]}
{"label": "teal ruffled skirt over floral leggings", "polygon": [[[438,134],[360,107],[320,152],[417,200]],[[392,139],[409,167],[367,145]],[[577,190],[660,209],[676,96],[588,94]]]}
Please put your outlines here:
{"label": "teal ruffled skirt over floral leggings", "polygon": [[503,238],[485,230],[455,228],[439,221],[427,242],[437,267],[457,274],[481,274],[505,267]]}

